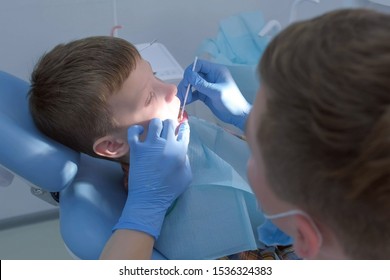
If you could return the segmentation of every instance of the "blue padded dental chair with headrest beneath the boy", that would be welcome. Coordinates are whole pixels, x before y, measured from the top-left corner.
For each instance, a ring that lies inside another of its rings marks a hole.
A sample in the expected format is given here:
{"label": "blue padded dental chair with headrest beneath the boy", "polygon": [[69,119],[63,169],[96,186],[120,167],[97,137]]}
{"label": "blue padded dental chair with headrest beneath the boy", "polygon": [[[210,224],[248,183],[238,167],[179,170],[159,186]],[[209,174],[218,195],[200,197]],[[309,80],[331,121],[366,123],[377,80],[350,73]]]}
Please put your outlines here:
{"label": "blue padded dental chair with headrest beneath the boy", "polygon": [[[74,258],[97,259],[126,201],[119,164],[46,137],[28,109],[29,84],[0,71],[0,183],[14,176],[59,207],[60,232]],[[16,203],[16,202],[15,202]],[[164,259],[154,250],[154,259]]]}

